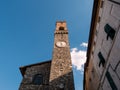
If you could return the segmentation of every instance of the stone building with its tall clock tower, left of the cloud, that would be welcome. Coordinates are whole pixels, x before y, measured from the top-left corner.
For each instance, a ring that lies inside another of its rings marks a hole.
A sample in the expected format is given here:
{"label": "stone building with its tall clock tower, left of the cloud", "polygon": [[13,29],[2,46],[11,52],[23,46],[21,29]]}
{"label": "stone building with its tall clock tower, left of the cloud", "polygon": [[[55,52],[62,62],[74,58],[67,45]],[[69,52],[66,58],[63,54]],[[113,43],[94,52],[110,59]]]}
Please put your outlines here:
{"label": "stone building with its tall clock tower, left of the cloud", "polygon": [[19,90],[74,90],[73,71],[65,21],[56,22],[52,60],[20,67]]}

